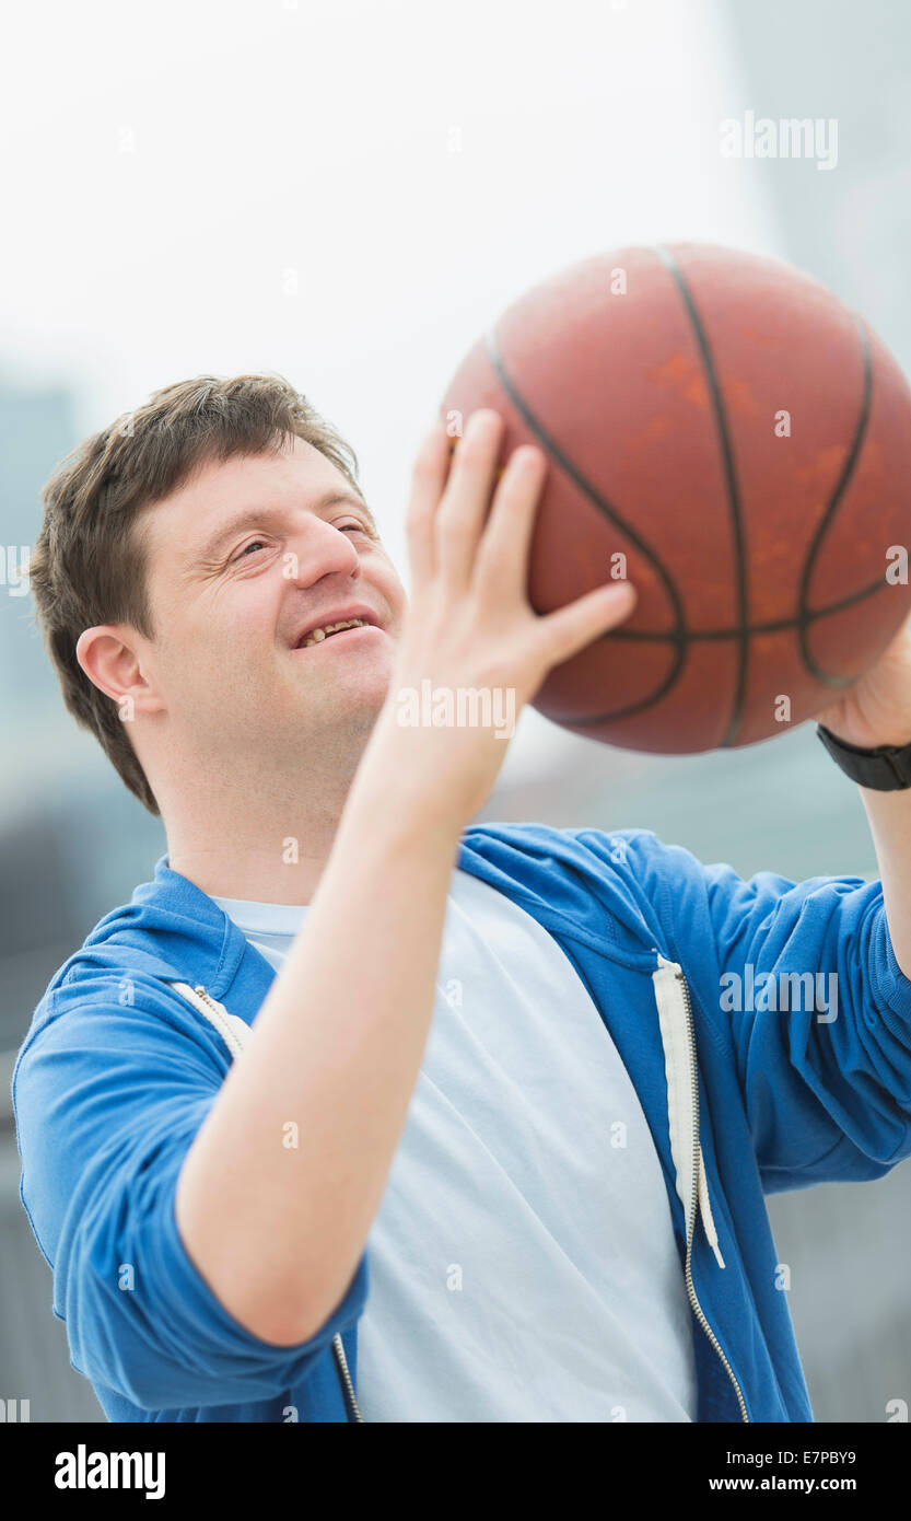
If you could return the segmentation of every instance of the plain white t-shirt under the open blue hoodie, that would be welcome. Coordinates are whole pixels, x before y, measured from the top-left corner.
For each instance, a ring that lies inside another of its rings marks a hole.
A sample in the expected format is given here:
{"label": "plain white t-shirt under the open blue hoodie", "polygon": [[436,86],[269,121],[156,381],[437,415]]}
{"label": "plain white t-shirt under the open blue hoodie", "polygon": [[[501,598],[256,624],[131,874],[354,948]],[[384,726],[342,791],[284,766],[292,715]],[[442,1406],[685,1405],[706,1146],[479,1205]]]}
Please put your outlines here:
{"label": "plain white t-shirt under the open blue hoodie", "polygon": [[[307,913],[214,902],[275,967]],[[695,1421],[694,1323],[628,1072],[560,945],[458,868],[367,1247],[365,1421]]]}

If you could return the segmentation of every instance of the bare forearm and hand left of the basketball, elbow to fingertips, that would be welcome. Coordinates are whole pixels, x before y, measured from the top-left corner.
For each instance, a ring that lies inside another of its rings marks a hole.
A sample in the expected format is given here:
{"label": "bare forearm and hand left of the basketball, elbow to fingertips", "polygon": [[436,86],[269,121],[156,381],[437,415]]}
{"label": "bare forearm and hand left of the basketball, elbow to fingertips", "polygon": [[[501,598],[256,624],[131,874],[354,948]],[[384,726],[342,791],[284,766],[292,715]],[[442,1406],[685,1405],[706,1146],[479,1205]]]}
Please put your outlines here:
{"label": "bare forearm and hand left of the basketball, elbow to fingertips", "polygon": [[[397,694],[514,689],[619,624],[630,586],[546,618],[526,566],[546,459],[516,450],[496,488],[496,414],[476,414],[449,470],[432,429],[408,516],[412,605],[389,698],[363,754],[310,913],[252,1039],[190,1147],[181,1238],[231,1316],[295,1345],[322,1326],[365,1249],[418,1077],[459,835],[496,779],[493,729],[405,729]],[[300,1147],[283,1145],[297,1124]]]}

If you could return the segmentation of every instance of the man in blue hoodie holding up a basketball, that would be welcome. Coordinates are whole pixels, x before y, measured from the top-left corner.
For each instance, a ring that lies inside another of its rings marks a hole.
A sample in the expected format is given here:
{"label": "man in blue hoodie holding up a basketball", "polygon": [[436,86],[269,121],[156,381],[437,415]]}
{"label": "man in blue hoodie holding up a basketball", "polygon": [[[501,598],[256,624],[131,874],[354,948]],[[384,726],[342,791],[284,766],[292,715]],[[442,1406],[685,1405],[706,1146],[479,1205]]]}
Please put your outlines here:
{"label": "man in blue hoodie holding up a basketball", "polygon": [[[46,491],[67,704],[167,834],[14,1075],[111,1419],[812,1419],[763,1194],[911,1154],[911,797],[855,757],[870,884],[470,827],[502,733],[402,694],[520,710],[634,605],[534,614],[546,461],[497,470],[502,432],[475,414],[452,462],[427,433],[408,611],[354,456],[277,379],[157,392]],[[823,716],[903,747],[908,636]],[[808,975],[836,1007],[727,996]]]}

